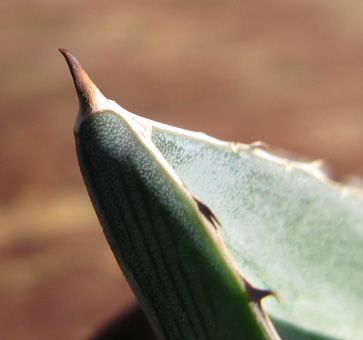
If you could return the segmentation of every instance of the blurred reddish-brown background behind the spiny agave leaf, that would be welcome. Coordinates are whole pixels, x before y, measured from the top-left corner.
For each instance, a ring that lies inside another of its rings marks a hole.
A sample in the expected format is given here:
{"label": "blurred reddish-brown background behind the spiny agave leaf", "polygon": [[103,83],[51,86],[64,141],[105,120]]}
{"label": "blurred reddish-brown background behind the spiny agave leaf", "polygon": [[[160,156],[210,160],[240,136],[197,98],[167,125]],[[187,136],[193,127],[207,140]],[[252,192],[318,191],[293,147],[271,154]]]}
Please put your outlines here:
{"label": "blurred reddish-brown background behind the spiny agave leaf", "polygon": [[80,176],[59,47],[131,112],[363,175],[360,0],[3,0],[0,12],[0,339],[85,339],[134,303]]}

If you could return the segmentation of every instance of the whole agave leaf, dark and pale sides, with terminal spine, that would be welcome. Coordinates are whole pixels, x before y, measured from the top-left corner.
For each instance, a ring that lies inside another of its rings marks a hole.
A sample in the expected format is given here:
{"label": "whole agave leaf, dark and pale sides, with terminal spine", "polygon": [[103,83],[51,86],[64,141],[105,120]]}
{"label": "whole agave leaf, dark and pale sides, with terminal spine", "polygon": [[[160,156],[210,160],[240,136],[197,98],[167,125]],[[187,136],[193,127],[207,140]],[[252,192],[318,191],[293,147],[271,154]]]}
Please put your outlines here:
{"label": "whole agave leaf, dark and pale sides, with terminal spine", "polygon": [[60,51],[84,182],[160,340],[363,338],[361,191],[319,162],[136,116]]}

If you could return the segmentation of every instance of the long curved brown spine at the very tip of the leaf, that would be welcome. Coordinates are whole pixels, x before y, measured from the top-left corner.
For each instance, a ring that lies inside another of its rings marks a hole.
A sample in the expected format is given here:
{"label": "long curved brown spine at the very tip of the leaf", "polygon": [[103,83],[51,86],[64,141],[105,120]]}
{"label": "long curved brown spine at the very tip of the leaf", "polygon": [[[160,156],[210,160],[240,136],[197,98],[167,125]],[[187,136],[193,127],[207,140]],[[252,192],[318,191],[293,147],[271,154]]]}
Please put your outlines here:
{"label": "long curved brown spine at the very tip of the leaf", "polygon": [[80,112],[82,112],[83,115],[95,112],[100,108],[100,106],[102,106],[102,102],[106,100],[106,98],[89,78],[86,71],[74,55],[63,48],[60,48],[59,51],[66,59],[71,71],[79,99]]}

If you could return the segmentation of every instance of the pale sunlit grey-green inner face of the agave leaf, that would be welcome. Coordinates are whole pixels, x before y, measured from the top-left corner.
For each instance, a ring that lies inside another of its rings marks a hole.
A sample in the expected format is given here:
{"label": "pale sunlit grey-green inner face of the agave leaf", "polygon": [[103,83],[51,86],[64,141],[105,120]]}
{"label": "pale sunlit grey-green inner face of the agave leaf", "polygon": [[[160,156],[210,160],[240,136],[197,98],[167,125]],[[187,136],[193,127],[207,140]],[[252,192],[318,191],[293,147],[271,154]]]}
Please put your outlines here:
{"label": "pale sunlit grey-green inner face of the agave leaf", "polygon": [[220,219],[221,235],[246,278],[281,298],[263,303],[271,316],[324,338],[362,336],[361,192],[325,179],[314,163],[279,159],[253,146],[161,125],[153,140]]}

